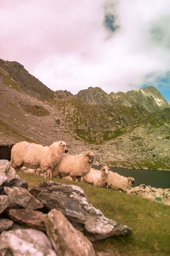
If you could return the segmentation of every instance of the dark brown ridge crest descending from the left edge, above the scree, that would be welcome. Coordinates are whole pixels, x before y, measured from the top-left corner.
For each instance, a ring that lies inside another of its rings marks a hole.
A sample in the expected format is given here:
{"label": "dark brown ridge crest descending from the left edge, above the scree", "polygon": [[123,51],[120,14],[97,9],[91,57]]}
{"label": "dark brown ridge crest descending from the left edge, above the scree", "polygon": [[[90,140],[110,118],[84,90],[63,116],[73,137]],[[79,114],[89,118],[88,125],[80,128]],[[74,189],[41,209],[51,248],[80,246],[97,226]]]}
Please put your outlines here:
{"label": "dark brown ridge crest descending from the left edge, above the scree", "polygon": [[0,76],[4,83],[16,90],[22,90],[38,99],[53,99],[54,92],[40,82],[35,76],[29,74],[24,66],[16,61],[0,59]]}

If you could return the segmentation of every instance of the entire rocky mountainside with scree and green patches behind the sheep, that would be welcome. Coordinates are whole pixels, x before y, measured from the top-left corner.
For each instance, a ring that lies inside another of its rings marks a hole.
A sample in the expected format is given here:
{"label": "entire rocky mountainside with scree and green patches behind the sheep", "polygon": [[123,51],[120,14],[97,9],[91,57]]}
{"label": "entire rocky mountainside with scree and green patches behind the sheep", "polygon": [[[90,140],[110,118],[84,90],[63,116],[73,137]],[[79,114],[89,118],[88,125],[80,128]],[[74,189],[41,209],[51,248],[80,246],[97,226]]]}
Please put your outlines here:
{"label": "entire rocky mountainside with scree and green patches behind the sheep", "polygon": [[53,92],[16,62],[0,60],[0,143],[92,149],[96,164],[170,169],[170,105],[155,87],[107,94]]}

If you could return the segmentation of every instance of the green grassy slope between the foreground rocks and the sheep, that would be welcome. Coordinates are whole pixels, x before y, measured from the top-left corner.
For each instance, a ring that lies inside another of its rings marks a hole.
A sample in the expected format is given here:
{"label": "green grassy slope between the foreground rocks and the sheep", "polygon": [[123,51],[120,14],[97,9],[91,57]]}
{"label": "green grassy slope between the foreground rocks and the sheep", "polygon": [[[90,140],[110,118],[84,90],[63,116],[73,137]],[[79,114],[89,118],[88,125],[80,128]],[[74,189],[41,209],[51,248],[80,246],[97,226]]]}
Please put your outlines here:
{"label": "green grassy slope between the foreground rocks and the sheep", "polygon": [[[20,177],[27,180],[29,189],[44,181],[42,176],[27,173],[21,173]],[[170,206],[137,195],[96,188],[86,183],[62,181],[57,178],[46,180],[80,186],[88,202],[102,211],[107,218],[132,227],[130,236],[111,237],[93,243],[97,251],[117,250],[124,256],[170,255]]]}

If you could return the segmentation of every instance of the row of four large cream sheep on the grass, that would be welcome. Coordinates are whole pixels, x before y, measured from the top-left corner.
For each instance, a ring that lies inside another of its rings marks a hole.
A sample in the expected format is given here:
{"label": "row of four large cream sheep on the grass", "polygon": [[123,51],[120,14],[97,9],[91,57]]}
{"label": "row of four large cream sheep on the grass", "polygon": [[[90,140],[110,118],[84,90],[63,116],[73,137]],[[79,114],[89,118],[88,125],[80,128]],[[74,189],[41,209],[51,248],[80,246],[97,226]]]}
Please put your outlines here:
{"label": "row of four large cream sheep on the grass", "polygon": [[11,150],[11,166],[17,171],[26,167],[44,177],[59,177],[61,179],[78,180],[98,187],[126,191],[134,184],[132,177],[124,177],[112,172],[108,166],[100,170],[92,168],[95,161],[93,151],[79,155],[68,155],[66,142],[54,142],[51,146],[19,142]]}

